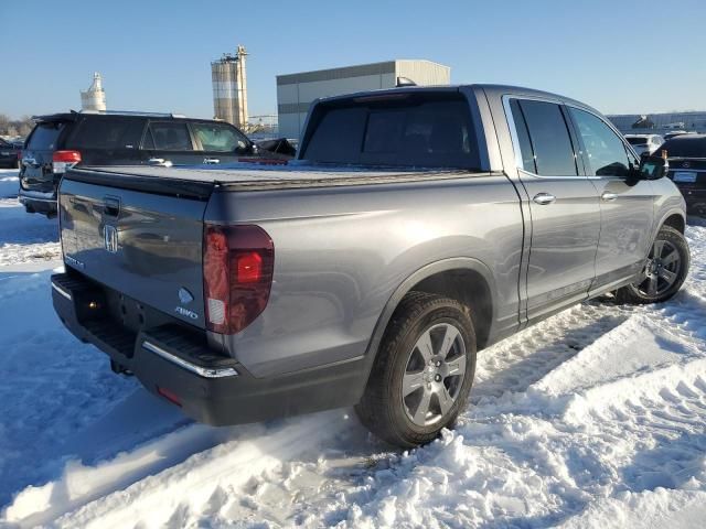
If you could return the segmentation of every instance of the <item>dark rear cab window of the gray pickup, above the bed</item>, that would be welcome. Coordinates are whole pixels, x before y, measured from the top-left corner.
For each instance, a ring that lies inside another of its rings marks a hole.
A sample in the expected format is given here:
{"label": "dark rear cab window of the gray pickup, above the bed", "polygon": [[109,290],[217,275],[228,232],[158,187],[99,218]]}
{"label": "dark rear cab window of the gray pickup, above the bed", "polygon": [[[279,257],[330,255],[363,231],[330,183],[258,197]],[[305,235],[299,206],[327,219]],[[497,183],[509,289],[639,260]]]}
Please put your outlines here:
{"label": "dark rear cab window of the gray pickup, above the bed", "polygon": [[302,159],[381,166],[478,169],[468,101],[459,94],[319,105]]}

